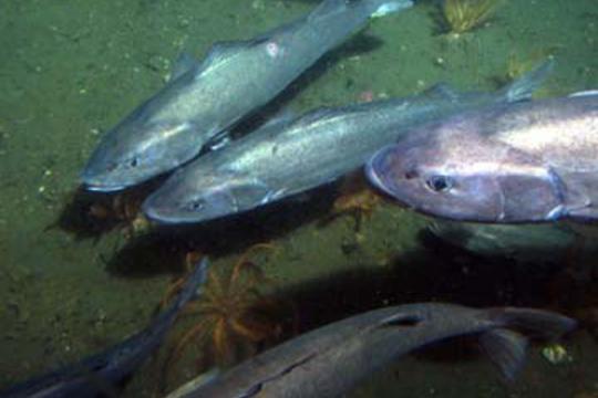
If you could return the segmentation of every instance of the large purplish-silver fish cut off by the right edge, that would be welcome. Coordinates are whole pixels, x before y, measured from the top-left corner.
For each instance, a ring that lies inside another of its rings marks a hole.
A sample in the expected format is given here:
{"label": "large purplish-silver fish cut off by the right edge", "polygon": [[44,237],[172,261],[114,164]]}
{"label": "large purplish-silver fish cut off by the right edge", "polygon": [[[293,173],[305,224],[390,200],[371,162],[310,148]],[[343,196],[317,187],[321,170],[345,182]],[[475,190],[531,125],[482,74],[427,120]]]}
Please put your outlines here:
{"label": "large purplish-silver fish cut off by the right edge", "polygon": [[598,218],[598,94],[491,105],[380,149],[369,180],[416,211],[474,222]]}

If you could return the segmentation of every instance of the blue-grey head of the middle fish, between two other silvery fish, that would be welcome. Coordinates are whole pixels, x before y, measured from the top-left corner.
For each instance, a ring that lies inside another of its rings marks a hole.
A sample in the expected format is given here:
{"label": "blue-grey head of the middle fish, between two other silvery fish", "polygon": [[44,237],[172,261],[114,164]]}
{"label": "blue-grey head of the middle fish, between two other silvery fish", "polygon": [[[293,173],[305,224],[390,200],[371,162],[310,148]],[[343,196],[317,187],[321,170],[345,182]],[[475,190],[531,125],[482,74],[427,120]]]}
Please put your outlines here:
{"label": "blue-grey head of the middle fish, between two other silvery fish", "polygon": [[169,224],[195,223],[269,201],[270,190],[254,178],[208,167],[199,171],[200,167],[190,166],[176,171],[144,201],[143,211],[150,219]]}

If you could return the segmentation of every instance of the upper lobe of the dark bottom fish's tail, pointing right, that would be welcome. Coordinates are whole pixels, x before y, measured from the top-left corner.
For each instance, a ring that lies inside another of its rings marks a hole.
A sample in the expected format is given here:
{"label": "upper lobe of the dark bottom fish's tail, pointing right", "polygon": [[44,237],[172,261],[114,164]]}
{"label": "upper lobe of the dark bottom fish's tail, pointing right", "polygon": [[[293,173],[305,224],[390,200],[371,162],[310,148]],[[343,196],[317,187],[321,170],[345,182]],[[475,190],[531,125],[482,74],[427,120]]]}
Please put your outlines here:
{"label": "upper lobe of the dark bottom fish's tail, pointing right", "polygon": [[573,331],[577,322],[570,317],[544,310],[495,308],[492,320],[508,328],[516,328],[532,337],[556,339]]}

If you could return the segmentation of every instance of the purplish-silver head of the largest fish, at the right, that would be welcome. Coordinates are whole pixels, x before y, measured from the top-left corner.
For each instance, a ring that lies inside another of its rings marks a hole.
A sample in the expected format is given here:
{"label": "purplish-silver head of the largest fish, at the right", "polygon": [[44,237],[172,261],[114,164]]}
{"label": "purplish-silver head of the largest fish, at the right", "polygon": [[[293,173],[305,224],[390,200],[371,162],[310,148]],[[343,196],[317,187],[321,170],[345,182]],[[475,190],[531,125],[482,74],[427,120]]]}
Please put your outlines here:
{"label": "purplish-silver head of the largest fish, at the right", "polygon": [[564,185],[539,159],[477,135],[406,139],[378,151],[369,179],[417,211],[477,222],[563,216]]}

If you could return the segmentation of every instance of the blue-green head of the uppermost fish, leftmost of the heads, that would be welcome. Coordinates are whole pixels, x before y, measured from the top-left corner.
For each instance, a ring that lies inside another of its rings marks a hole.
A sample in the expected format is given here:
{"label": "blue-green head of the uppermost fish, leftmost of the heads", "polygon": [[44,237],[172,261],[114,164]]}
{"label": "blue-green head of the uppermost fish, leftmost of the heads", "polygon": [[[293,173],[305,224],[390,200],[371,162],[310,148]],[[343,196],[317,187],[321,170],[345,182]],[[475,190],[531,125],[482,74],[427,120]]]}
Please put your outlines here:
{"label": "blue-green head of the uppermost fish, leftmost of the heads", "polygon": [[81,181],[89,190],[110,192],[172,170],[198,153],[193,129],[188,123],[125,119],[100,142]]}

